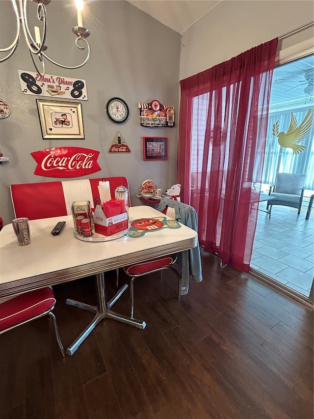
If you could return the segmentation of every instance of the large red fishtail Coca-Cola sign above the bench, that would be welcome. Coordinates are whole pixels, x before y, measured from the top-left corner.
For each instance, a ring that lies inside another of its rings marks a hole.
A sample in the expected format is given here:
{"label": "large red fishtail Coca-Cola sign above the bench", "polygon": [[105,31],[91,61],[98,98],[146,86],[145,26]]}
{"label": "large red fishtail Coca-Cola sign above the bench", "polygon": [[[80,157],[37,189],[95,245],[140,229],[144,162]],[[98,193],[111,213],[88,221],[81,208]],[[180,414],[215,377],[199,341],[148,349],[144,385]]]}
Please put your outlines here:
{"label": "large red fishtail Coca-Cola sign above the bench", "polygon": [[34,174],[48,177],[79,177],[101,170],[99,151],[83,147],[54,147],[30,153],[37,163]]}

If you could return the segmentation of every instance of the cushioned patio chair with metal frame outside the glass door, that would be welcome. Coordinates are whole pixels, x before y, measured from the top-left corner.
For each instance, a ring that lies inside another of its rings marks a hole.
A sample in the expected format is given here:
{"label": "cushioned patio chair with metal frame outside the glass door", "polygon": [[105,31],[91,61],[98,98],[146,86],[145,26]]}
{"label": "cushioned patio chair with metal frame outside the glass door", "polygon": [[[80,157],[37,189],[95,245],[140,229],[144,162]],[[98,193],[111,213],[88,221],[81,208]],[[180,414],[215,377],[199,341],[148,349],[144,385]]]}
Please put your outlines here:
{"label": "cushioned patio chair with metal frame outside the glass door", "polygon": [[269,209],[269,218],[273,205],[284,205],[292,208],[297,208],[298,215],[300,215],[304,182],[306,173],[278,173],[277,183],[271,185],[269,188],[269,196],[276,196],[278,199],[267,201],[266,210]]}

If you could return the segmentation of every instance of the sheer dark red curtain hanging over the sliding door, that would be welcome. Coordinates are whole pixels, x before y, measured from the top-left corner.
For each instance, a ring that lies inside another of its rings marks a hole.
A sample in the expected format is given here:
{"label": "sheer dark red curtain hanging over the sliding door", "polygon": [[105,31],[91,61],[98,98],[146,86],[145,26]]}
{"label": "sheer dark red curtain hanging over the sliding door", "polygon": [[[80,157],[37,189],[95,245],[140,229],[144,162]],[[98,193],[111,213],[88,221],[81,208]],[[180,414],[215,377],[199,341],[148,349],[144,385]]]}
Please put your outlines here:
{"label": "sheer dark red curtain hanging over the sliding door", "polygon": [[199,241],[247,272],[278,39],[181,81],[177,181]]}

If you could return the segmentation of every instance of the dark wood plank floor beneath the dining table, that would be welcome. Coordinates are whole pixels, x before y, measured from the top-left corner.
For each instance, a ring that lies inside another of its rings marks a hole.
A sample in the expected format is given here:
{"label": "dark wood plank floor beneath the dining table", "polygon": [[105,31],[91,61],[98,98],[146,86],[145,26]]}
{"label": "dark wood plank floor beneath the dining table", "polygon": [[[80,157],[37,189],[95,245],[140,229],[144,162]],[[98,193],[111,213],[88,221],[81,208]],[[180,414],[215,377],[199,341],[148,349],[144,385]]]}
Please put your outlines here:
{"label": "dark wood plank floor beneath the dining table", "polygon": [[[145,330],[105,320],[62,359],[46,317],[0,336],[2,419],[313,418],[313,312],[203,254],[201,283],[135,281]],[[107,277],[114,293],[114,276]],[[92,279],[55,287],[67,346],[92,314]],[[128,313],[126,292],[114,306]]]}

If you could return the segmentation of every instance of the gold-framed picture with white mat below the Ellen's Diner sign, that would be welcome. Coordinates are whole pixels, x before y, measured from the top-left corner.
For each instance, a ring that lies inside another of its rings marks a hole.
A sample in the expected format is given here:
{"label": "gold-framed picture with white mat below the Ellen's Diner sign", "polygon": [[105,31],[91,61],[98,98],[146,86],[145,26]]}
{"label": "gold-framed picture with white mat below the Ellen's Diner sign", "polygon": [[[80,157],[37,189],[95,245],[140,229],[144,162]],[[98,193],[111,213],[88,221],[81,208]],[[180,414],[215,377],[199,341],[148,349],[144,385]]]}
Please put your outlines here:
{"label": "gold-framed picture with white mat below the Ellen's Diner sign", "polygon": [[84,139],[81,104],[37,99],[41,132],[48,139]]}

